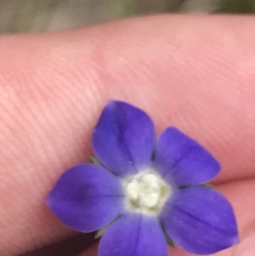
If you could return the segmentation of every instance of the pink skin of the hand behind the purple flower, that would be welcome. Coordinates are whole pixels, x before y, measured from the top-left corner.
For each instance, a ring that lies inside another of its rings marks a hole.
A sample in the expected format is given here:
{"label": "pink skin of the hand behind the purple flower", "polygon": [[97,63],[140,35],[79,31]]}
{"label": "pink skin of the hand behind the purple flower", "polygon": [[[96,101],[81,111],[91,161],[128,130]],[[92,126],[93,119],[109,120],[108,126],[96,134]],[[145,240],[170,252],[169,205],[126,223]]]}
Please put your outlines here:
{"label": "pink skin of the hand behind the purple flower", "polygon": [[252,17],[168,15],[2,36],[0,255],[73,234],[44,200],[66,168],[88,161],[108,99],[138,105],[158,133],[176,126],[212,151],[223,166],[215,183],[233,204],[241,232],[239,245],[215,255],[253,255],[254,26]]}

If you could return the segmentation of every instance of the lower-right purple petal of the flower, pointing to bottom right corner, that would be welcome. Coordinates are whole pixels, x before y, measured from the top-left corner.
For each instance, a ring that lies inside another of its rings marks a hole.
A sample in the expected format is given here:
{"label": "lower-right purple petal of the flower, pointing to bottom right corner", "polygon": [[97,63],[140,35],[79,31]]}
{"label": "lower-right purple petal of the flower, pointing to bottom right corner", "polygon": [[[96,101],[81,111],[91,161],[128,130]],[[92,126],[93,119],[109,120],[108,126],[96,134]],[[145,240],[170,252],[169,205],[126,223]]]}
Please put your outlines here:
{"label": "lower-right purple petal of the flower, pointing to bottom right corner", "polygon": [[239,241],[233,208],[217,191],[193,187],[176,192],[161,213],[167,235],[189,253],[216,253]]}

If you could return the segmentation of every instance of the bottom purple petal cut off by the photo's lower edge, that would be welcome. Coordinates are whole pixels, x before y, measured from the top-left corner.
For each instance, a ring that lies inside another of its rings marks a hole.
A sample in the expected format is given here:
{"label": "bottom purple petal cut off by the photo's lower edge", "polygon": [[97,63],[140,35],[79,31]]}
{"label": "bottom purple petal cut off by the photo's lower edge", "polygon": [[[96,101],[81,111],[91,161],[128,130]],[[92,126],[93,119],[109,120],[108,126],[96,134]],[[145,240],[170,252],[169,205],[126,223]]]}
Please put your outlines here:
{"label": "bottom purple petal cut off by the photo's lower edge", "polygon": [[99,244],[99,256],[167,256],[167,241],[156,218],[127,214],[117,219]]}

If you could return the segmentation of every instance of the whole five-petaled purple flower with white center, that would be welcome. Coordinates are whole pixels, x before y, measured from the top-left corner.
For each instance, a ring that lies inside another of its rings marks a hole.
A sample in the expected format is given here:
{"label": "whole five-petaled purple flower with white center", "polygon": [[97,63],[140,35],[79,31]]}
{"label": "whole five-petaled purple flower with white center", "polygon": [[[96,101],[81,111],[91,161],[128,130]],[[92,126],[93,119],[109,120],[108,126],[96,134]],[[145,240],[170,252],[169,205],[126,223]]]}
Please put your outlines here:
{"label": "whole five-petaled purple flower with white center", "polygon": [[156,141],[144,111],[110,101],[94,128],[93,148],[101,165],[67,170],[47,203],[74,230],[105,228],[99,256],[167,256],[170,237],[197,254],[239,241],[233,208],[203,185],[219,173],[219,163],[177,128]]}

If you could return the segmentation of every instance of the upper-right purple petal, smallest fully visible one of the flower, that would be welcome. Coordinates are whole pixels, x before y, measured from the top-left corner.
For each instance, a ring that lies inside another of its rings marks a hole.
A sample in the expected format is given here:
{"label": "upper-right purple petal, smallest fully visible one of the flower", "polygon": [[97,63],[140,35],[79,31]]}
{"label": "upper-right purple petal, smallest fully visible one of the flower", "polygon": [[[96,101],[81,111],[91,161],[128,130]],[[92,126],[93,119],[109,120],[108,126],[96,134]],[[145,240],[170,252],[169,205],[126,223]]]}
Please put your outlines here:
{"label": "upper-right purple petal, smallest fully visible one of the flower", "polygon": [[170,184],[199,185],[220,171],[217,160],[177,128],[167,128],[156,145],[155,168]]}

